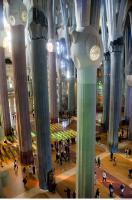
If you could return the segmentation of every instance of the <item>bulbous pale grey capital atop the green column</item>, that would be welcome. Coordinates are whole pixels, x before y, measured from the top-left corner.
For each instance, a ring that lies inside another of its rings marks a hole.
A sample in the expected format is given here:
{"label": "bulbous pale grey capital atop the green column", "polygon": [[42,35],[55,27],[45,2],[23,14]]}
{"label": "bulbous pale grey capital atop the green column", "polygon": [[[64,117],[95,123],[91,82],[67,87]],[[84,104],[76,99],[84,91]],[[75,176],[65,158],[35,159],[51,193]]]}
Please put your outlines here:
{"label": "bulbous pale grey capital atop the green column", "polygon": [[102,58],[102,43],[97,30],[88,26],[83,32],[74,31],[71,52],[78,69],[99,66]]}

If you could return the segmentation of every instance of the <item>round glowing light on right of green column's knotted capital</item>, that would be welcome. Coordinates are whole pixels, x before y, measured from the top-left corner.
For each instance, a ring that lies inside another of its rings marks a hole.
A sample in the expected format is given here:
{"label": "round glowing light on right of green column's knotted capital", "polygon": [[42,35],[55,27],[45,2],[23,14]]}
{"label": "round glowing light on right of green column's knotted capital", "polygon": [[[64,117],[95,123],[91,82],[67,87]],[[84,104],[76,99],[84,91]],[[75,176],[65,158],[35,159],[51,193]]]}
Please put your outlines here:
{"label": "round glowing light on right of green column's knotted capital", "polygon": [[94,45],[91,49],[90,49],[90,59],[92,61],[96,61],[99,59],[100,57],[100,47],[97,45]]}

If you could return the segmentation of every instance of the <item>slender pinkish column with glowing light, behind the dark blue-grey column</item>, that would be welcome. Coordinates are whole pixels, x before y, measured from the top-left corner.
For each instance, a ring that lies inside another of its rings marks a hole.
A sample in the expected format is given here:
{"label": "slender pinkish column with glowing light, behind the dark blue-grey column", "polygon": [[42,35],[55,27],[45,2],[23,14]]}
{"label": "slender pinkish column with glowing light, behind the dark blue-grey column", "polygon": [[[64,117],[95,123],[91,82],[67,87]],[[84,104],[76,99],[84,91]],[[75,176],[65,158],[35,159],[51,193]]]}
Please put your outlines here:
{"label": "slender pinkish column with glowing light, behind the dark blue-grey column", "polygon": [[56,84],[56,54],[54,48],[55,38],[55,16],[53,8],[53,0],[48,0],[48,41],[52,45],[52,49],[48,52],[48,65],[49,65],[49,103],[50,103],[50,119],[51,122],[58,122],[57,114],[57,84]]}

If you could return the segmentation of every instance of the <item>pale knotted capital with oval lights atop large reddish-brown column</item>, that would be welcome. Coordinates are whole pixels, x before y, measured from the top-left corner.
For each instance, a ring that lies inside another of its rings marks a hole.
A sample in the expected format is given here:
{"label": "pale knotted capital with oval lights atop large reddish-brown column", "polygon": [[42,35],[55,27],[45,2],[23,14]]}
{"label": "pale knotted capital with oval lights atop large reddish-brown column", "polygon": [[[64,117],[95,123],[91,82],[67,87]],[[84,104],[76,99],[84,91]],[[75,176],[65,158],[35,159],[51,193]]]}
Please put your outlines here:
{"label": "pale knotted capital with oval lights atop large reddish-brown column", "polygon": [[6,4],[5,15],[11,26],[26,25],[27,9],[22,1],[10,0],[10,3]]}

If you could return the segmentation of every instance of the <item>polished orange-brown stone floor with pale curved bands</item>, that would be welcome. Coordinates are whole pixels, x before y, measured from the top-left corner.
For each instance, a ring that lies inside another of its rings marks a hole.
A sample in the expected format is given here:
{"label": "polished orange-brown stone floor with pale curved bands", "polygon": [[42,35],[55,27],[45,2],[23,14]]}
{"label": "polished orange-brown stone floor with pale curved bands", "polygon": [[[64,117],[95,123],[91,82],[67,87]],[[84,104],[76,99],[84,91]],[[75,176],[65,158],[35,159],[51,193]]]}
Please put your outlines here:
{"label": "polished orange-brown stone floor with pale curved bands", "polygon": [[[117,165],[113,166],[110,156],[106,148],[106,133],[101,133],[101,142],[96,144],[96,156],[101,158],[101,167],[95,167],[97,173],[97,181],[95,190],[100,188],[101,197],[109,198],[109,184],[112,182],[114,186],[114,197],[120,197],[119,186],[125,184],[125,198],[132,198],[132,179],[128,177],[128,169],[132,168],[132,156],[126,157],[125,148],[132,148],[132,142],[123,140],[119,145],[119,153],[116,154]],[[17,151],[14,151],[17,158]],[[52,152],[52,163],[55,168],[55,178],[57,183],[56,193],[49,193],[39,189],[37,175],[28,176],[26,188],[22,182],[22,168],[19,163],[18,173],[13,169],[13,156],[9,154],[0,166],[0,197],[6,198],[66,198],[64,190],[66,187],[71,189],[71,193],[75,191],[76,182],[76,144],[71,145],[71,160],[63,162],[62,166],[55,162],[55,151]],[[107,172],[106,183],[102,182],[102,172]]]}

